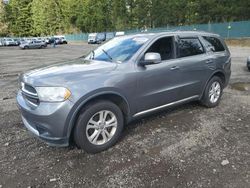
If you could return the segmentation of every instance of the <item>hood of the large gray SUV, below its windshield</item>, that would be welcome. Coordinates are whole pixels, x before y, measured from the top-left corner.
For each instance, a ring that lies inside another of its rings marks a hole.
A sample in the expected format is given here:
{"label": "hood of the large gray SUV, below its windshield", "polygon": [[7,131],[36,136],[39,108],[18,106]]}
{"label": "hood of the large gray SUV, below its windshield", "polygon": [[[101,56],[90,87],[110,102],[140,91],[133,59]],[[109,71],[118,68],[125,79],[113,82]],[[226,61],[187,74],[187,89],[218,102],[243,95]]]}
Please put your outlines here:
{"label": "hood of the large gray SUV, below its windshield", "polygon": [[79,58],[29,71],[23,74],[21,79],[33,86],[58,86],[107,74],[116,66],[117,64],[112,62]]}

